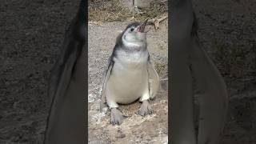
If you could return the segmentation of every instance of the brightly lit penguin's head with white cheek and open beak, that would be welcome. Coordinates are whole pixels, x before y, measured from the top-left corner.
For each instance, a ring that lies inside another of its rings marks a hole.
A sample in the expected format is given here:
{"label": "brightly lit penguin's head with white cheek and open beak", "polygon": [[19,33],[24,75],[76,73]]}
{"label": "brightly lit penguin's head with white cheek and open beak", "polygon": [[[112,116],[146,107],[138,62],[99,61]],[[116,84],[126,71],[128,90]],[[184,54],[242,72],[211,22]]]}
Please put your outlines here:
{"label": "brightly lit penguin's head with white cheek and open beak", "polygon": [[146,43],[146,22],[133,22],[122,32],[122,44],[125,46],[141,46]]}

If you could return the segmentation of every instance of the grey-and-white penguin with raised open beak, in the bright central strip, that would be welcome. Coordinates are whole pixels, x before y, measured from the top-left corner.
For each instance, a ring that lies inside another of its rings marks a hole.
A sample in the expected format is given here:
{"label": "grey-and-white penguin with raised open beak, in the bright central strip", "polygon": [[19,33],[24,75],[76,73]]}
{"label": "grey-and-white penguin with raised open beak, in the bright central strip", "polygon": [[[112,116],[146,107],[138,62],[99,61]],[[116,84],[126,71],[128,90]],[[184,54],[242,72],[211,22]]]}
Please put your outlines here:
{"label": "grey-and-white penguin with raised open beak, in the bright central strip", "polygon": [[113,125],[120,125],[123,119],[118,104],[129,104],[139,98],[142,106],[138,114],[145,116],[153,111],[148,100],[157,94],[159,77],[146,46],[146,22],[126,26],[126,30],[118,35],[108,61],[100,109],[106,102]]}

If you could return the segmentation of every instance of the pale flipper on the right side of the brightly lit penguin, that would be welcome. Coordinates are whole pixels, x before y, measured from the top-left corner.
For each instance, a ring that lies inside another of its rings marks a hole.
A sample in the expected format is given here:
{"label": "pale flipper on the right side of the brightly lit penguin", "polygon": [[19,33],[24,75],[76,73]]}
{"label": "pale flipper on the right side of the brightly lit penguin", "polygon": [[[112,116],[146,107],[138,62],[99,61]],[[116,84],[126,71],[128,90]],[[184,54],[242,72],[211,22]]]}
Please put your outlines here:
{"label": "pale flipper on the right side of the brightly lit penguin", "polygon": [[154,96],[158,92],[160,78],[158,76],[157,71],[154,69],[153,64],[148,62],[148,74],[149,74],[149,88],[150,88],[150,98],[154,98]]}

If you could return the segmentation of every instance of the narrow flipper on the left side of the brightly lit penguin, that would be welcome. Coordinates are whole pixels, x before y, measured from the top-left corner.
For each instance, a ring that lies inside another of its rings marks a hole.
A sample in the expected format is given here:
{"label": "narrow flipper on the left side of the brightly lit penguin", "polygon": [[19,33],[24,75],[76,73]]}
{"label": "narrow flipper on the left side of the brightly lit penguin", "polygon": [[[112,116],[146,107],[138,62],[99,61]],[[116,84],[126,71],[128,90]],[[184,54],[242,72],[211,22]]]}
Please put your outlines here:
{"label": "narrow flipper on the left side of the brightly lit penguin", "polygon": [[106,104],[106,84],[107,84],[107,81],[110,78],[110,74],[111,74],[111,70],[112,70],[113,66],[114,66],[114,62],[109,60],[109,64],[108,64],[108,66],[106,68],[106,71],[105,71],[103,86],[102,86],[102,97],[101,97],[101,103],[100,103],[100,111],[101,112],[102,112],[102,109],[103,109],[104,105]]}

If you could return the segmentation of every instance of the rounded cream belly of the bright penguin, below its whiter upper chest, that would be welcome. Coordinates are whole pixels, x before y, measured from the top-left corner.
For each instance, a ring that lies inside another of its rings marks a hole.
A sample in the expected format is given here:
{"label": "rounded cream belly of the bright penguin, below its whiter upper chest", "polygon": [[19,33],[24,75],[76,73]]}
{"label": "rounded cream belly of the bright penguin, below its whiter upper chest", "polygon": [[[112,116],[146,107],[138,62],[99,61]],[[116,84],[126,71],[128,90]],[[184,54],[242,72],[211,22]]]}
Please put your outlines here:
{"label": "rounded cream belly of the bright penguin, below its whiter upper chest", "polygon": [[112,102],[134,102],[148,91],[146,63],[135,66],[120,66],[115,63],[107,87],[107,97]]}

